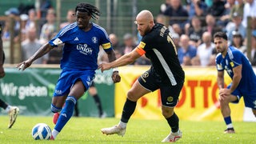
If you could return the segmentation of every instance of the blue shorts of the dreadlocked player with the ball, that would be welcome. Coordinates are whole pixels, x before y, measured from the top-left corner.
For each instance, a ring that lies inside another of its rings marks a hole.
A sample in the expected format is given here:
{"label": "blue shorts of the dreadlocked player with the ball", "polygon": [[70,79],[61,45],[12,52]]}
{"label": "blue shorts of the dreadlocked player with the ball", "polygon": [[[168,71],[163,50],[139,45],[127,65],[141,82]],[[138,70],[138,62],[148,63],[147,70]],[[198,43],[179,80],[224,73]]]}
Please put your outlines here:
{"label": "blue shorts of the dreadlocked player with the ball", "polygon": [[78,80],[81,80],[86,90],[88,90],[94,80],[94,76],[94,70],[62,70],[54,90],[54,97],[69,94],[70,88]]}

